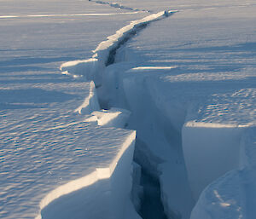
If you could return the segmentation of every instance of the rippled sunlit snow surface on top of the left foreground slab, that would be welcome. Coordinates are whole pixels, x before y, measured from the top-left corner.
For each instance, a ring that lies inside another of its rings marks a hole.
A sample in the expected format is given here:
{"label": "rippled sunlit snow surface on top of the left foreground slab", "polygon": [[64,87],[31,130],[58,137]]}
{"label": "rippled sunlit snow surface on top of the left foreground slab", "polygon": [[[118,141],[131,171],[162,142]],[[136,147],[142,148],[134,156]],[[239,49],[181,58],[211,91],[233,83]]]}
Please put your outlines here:
{"label": "rippled sunlit snow surface on top of the left foreground slab", "polygon": [[[89,175],[96,168],[107,168],[131,135],[128,130],[103,129],[73,121],[69,114],[60,112],[30,110],[23,113],[26,116],[17,113],[1,118],[9,122],[7,127],[1,127],[9,129],[1,134],[4,145],[1,149],[3,218],[37,216],[38,204],[47,193]],[[90,181],[96,182],[95,178],[92,176]],[[84,180],[84,185],[83,182],[80,184],[77,182],[75,186],[84,187],[91,183]],[[64,193],[68,189],[73,191],[67,187]],[[45,204],[41,205],[44,207]]]}

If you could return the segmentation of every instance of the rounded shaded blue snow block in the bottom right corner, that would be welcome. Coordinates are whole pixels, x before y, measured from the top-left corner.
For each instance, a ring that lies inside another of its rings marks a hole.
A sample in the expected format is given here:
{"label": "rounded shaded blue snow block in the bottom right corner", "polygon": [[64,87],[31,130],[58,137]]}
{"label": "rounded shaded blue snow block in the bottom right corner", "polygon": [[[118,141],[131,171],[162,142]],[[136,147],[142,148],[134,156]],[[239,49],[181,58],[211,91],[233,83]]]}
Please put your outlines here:
{"label": "rounded shaded blue snow block in the bottom right corner", "polygon": [[201,193],[191,219],[254,218],[255,133],[255,127],[245,131],[241,138],[240,167],[218,178]]}

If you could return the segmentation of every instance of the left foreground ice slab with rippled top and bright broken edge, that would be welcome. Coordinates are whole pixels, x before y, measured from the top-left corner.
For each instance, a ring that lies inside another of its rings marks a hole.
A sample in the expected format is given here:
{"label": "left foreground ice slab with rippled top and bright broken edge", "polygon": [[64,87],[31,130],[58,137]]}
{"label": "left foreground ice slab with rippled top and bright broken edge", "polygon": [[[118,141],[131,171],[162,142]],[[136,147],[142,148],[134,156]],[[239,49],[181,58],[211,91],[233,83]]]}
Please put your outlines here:
{"label": "left foreground ice slab with rippled top and bright broken edge", "polygon": [[[2,117],[5,122],[0,132],[1,217],[35,218],[40,216],[40,210],[64,194],[106,179],[101,190],[108,193],[105,199],[110,203],[105,216],[120,218],[122,208],[113,210],[112,205],[118,199],[119,205],[125,206],[122,195],[130,192],[135,132],[103,128],[76,119],[67,121],[67,117],[64,112],[42,110],[41,113],[38,109]],[[90,203],[86,212],[96,210],[97,202]]]}

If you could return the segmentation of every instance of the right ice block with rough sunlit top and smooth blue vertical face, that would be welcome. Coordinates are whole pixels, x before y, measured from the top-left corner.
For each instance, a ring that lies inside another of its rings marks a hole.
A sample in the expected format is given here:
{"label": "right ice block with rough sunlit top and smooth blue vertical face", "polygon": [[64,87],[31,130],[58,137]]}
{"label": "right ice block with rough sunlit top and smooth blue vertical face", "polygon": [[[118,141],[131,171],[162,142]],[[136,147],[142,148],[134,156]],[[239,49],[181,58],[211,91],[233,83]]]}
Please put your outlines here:
{"label": "right ice block with rough sunlit top and smooth blue vertical face", "polygon": [[195,200],[209,183],[237,169],[241,135],[255,125],[256,89],[216,92],[190,110],[183,125],[183,153]]}

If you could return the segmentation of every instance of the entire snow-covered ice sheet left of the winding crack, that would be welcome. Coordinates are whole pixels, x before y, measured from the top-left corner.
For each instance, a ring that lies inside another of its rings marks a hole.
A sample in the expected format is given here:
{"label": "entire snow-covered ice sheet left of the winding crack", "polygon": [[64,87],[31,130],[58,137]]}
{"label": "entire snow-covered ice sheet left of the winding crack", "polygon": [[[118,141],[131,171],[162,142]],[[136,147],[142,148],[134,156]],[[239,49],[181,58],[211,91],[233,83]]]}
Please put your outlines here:
{"label": "entire snow-covered ice sheet left of the winding crack", "polygon": [[[135,132],[85,122],[100,110],[95,85],[58,68],[63,61],[90,57],[98,43],[143,13],[87,1],[0,5],[5,16],[0,22],[0,217],[39,218],[40,210],[43,218],[61,216],[55,202],[65,206],[63,195],[77,190],[84,197],[106,194],[108,209],[98,214],[120,218],[131,190]],[[129,113],[121,114],[115,124],[124,126]],[[93,212],[102,197],[92,196],[84,199],[91,201],[87,216],[97,218]],[[79,197],[73,197],[76,203]],[[83,214],[84,206],[78,206]],[[66,216],[79,218],[73,209],[66,208]]]}

